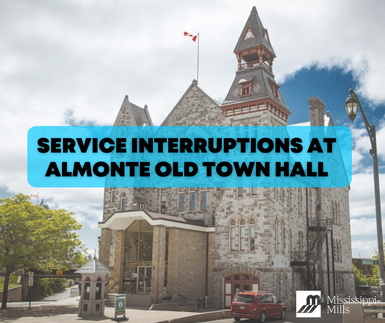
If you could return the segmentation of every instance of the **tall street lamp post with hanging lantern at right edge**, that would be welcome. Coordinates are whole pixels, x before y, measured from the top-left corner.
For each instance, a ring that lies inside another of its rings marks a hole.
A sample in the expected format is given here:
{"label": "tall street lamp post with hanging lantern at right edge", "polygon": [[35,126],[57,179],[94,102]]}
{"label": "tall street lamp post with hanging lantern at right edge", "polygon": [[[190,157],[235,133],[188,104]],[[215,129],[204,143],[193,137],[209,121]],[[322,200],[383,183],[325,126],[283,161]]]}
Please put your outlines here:
{"label": "tall street lamp post with hanging lantern at right edge", "polygon": [[378,266],[380,269],[380,289],[381,301],[385,301],[385,268],[384,268],[384,252],[382,238],[382,219],[381,219],[381,201],[380,201],[380,182],[378,178],[378,157],[377,157],[377,142],[376,142],[376,126],[369,123],[366,118],[365,111],[362,108],[360,99],[354,92],[352,87],[349,89],[350,95],[345,100],[345,108],[350,121],[354,121],[357,116],[357,108],[360,108],[366,130],[372,144],[372,149],[369,150],[373,158],[373,177],[374,177],[374,198],[376,206],[376,221],[377,221],[377,243],[378,243]]}

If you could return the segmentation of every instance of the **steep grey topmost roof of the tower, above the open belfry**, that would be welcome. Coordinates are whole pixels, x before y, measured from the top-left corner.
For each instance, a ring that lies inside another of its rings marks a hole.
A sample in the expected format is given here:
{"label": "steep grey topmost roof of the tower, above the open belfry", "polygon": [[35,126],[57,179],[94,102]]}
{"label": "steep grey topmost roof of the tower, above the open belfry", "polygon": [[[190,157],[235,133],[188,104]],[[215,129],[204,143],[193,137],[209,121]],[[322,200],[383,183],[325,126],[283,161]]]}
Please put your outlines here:
{"label": "steep grey topmost roof of the tower, above the open belfry", "polygon": [[[249,29],[253,33],[254,37],[245,39],[246,32]],[[267,33],[267,29],[263,27],[261,19],[259,18],[257,9],[253,7],[249,15],[249,19],[247,20],[246,25],[244,25],[242,33],[239,36],[238,42],[235,45],[234,52],[263,45],[275,56],[273,47],[271,46],[269,41],[264,38],[266,33]]]}

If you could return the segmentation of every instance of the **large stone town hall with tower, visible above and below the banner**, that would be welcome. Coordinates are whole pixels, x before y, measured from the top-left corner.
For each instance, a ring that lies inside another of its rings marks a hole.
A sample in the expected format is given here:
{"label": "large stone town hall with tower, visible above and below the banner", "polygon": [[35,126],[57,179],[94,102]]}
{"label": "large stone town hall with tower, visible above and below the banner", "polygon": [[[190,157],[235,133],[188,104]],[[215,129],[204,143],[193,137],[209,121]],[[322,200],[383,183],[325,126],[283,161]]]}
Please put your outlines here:
{"label": "large stone town hall with tower, visible above and below the banner", "polygon": [[[193,81],[163,126],[286,126],[276,57],[253,7],[234,49],[238,70],[223,103]],[[308,99],[305,125],[332,127]],[[115,126],[152,125],[126,96]],[[302,124],[304,125],[304,124]],[[252,128],[251,128],[252,129]],[[251,185],[253,186],[253,185]],[[234,293],[266,290],[295,305],[296,290],[354,296],[349,188],[105,188],[100,261],[110,293],[228,308]],[[137,301],[139,303],[139,301]]]}

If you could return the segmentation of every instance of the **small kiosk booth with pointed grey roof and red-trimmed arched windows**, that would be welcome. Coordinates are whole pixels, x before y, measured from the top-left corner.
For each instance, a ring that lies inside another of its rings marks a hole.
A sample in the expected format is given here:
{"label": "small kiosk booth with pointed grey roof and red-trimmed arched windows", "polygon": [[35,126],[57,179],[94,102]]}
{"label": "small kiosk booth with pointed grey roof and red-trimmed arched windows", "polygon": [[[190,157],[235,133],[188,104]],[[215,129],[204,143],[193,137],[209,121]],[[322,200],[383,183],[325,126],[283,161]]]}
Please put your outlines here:
{"label": "small kiosk booth with pointed grey roof and red-trimmed arched windows", "polygon": [[103,316],[104,286],[106,276],[112,274],[112,271],[94,257],[75,273],[82,274],[77,316]]}

